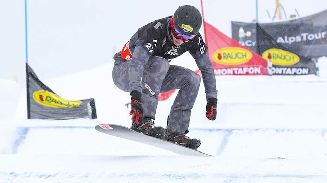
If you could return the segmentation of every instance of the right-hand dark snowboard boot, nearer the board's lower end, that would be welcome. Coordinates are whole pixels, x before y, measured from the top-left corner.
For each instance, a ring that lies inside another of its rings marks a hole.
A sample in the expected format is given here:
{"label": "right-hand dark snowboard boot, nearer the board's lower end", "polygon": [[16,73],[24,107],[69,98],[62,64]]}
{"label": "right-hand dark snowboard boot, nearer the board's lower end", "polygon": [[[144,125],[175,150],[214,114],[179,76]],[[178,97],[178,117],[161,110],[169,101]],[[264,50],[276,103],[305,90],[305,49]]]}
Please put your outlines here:
{"label": "right-hand dark snowboard boot, nearer the board's lower end", "polygon": [[[185,134],[188,132],[189,131],[186,130]],[[196,150],[201,145],[201,141],[198,139],[191,139],[185,134],[178,135],[172,132],[166,132],[165,140]]]}

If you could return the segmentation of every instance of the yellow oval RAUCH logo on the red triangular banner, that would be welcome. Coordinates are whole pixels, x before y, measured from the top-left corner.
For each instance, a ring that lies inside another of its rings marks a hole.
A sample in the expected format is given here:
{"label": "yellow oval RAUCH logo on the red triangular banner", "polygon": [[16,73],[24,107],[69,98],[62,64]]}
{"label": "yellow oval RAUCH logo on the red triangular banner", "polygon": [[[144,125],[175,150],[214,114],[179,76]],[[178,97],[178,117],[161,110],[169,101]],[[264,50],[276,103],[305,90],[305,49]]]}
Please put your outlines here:
{"label": "yellow oval RAUCH logo on the red triangular banner", "polygon": [[239,65],[247,63],[252,58],[249,50],[239,47],[226,47],[214,52],[213,60],[223,65]]}

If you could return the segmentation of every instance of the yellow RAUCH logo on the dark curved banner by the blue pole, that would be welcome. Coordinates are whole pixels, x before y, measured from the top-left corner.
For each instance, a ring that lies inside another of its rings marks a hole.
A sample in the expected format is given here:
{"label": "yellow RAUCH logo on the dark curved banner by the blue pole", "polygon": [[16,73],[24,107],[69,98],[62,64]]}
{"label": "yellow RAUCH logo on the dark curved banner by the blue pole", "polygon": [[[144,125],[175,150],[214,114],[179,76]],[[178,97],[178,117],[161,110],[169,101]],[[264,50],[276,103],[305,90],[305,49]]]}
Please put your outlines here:
{"label": "yellow RAUCH logo on the dark curved banner by the blue pole", "polygon": [[60,108],[60,107],[73,108],[73,107],[78,107],[82,103],[82,101],[65,100],[57,96],[56,94],[45,90],[39,90],[37,92],[34,92],[33,99],[41,105],[54,107],[54,108]]}

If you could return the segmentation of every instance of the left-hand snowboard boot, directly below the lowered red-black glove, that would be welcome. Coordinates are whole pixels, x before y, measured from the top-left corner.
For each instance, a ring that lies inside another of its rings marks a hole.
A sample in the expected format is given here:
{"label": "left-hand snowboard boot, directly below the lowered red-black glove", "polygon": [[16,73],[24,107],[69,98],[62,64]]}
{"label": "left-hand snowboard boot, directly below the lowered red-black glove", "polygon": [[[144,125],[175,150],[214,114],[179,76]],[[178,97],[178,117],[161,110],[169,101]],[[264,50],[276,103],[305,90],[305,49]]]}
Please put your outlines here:
{"label": "left-hand snowboard boot, directly below the lowered red-black glove", "polygon": [[152,121],[152,118],[149,117],[144,117],[141,124],[137,125],[136,123],[133,123],[131,129],[136,132],[160,139],[164,139],[166,133],[165,128],[154,126],[154,121]]}

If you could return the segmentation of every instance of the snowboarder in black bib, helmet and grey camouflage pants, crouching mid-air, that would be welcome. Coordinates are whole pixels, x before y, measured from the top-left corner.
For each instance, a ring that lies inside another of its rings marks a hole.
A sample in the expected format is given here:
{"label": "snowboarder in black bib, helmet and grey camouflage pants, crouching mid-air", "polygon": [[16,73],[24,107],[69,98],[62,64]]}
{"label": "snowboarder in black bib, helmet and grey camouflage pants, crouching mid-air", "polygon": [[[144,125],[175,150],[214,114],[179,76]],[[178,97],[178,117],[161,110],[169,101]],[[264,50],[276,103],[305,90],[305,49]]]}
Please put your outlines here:
{"label": "snowboarder in black bib, helmet and grey camouflage pants, crouching mid-air", "polygon": [[[131,95],[131,129],[193,149],[200,146],[188,132],[191,109],[198,94],[201,78],[190,69],[170,65],[184,52],[195,59],[205,86],[206,117],[216,119],[217,90],[214,70],[206,53],[207,46],[199,33],[202,16],[194,6],[180,6],[174,13],[141,28],[114,56],[112,77],[115,85]],[[167,129],[155,127],[158,95],[179,89]]]}

